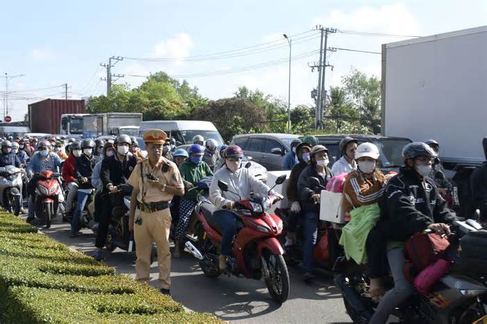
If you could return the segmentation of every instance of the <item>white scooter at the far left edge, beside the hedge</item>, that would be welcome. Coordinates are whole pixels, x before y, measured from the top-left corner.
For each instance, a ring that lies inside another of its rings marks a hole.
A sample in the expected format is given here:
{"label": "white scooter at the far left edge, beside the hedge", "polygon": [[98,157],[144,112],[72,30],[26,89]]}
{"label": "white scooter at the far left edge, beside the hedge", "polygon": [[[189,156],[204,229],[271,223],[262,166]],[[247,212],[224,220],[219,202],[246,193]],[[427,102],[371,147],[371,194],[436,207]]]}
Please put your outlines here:
{"label": "white scooter at the far left edge, beside the hedge", "polygon": [[19,216],[22,208],[22,179],[24,170],[7,165],[0,168],[0,204],[15,216]]}

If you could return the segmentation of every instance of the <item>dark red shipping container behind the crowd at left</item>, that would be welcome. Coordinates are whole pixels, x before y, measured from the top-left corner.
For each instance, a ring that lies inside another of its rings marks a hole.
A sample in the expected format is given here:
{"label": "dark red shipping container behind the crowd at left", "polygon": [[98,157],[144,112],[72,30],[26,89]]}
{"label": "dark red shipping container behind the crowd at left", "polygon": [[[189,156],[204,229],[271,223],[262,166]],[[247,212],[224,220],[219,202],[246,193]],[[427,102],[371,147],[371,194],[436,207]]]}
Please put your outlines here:
{"label": "dark red shipping container behind the crowd at left", "polygon": [[29,104],[29,126],[35,133],[59,133],[61,115],[85,111],[84,100],[45,99]]}

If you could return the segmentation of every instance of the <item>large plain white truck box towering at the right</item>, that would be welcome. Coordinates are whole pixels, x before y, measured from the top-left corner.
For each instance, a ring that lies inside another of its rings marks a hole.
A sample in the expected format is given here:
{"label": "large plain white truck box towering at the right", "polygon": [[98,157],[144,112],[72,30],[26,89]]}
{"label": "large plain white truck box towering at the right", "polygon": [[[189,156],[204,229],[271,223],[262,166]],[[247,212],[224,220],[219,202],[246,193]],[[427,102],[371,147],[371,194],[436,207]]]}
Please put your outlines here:
{"label": "large plain white truck box towering at the right", "polygon": [[449,167],[484,161],[487,26],[382,46],[385,136],[433,138]]}

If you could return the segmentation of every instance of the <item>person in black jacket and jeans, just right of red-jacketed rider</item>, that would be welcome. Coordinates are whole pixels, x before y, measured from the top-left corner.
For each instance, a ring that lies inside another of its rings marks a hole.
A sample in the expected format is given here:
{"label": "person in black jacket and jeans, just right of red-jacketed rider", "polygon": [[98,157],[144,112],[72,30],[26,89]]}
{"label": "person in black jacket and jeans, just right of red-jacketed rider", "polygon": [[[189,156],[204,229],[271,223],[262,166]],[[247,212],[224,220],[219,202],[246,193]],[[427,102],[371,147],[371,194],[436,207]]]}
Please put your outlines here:
{"label": "person in black jacket and jeans, just right of red-jacketed rider", "polygon": [[76,237],[79,235],[79,216],[81,214],[81,206],[86,203],[89,191],[83,191],[83,189],[91,189],[91,175],[93,173],[93,147],[95,147],[95,142],[90,138],[85,138],[81,142],[81,150],[83,154],[76,159],[74,163],[74,177],[78,180],[78,204],[74,210],[73,218],[71,220],[71,234],[70,237]]}

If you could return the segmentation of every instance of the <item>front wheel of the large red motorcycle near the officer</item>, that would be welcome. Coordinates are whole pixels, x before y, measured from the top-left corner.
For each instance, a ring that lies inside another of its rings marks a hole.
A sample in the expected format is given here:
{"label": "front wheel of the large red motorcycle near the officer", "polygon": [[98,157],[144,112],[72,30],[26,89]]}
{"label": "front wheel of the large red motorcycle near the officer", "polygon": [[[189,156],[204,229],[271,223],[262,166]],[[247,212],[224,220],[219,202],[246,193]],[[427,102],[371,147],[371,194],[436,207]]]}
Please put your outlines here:
{"label": "front wheel of the large red motorcycle near the officer", "polygon": [[289,273],[282,255],[266,254],[264,256],[269,277],[265,279],[267,289],[273,300],[281,305],[289,296]]}

